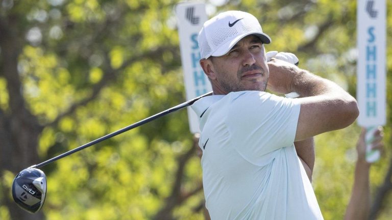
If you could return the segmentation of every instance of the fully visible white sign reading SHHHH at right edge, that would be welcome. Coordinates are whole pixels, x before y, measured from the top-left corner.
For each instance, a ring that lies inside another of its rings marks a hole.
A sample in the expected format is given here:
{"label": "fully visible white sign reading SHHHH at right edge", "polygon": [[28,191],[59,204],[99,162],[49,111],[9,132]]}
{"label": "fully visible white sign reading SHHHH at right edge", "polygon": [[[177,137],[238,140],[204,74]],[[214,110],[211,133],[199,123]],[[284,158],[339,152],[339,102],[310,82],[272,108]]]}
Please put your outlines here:
{"label": "fully visible white sign reading SHHHH at right edge", "polygon": [[386,113],[386,4],[385,0],[357,1],[358,124],[385,125]]}

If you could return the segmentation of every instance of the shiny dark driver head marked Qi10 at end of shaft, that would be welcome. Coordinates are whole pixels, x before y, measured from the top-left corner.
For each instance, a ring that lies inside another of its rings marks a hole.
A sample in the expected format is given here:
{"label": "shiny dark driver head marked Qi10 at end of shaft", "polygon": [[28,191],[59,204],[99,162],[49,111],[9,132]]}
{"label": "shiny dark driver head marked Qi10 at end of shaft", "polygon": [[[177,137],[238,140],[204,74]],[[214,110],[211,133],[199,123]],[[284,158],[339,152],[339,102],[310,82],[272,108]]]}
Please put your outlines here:
{"label": "shiny dark driver head marked Qi10 at end of shaft", "polygon": [[42,208],[46,196],[46,176],[36,168],[27,168],[12,183],[12,198],[24,210],[35,213]]}

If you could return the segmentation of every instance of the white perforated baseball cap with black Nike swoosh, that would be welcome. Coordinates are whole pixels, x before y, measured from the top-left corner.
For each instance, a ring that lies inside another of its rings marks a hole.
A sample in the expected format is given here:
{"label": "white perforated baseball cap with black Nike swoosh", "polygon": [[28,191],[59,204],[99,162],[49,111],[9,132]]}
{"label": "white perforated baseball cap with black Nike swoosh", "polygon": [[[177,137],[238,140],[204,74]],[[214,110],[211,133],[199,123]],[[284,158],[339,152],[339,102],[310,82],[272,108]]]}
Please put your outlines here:
{"label": "white perforated baseball cap with black Nike swoosh", "polygon": [[206,21],[199,32],[201,59],[223,56],[248,35],[258,36],[265,44],[271,43],[271,38],[263,33],[255,16],[242,11],[227,11],[216,15]]}

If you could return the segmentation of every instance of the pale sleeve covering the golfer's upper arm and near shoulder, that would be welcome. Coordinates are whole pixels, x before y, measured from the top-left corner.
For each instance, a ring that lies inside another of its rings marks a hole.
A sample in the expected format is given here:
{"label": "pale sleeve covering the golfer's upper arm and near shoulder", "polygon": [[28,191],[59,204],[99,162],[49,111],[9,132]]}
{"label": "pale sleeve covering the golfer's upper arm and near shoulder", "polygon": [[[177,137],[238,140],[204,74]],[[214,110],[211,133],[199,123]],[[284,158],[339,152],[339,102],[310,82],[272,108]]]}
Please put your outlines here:
{"label": "pale sleeve covering the golfer's upper arm and near shoulder", "polygon": [[298,100],[258,91],[232,95],[226,123],[237,151],[261,156],[293,145],[301,106]]}

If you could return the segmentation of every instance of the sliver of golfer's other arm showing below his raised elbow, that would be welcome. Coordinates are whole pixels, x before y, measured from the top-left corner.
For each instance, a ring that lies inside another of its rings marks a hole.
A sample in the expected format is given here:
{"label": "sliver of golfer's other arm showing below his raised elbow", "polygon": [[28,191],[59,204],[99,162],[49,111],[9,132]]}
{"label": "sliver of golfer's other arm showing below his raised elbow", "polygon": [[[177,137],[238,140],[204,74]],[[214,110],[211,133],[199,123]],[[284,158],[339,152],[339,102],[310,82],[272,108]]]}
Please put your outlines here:
{"label": "sliver of golfer's other arm showing below his raised elbow", "polygon": [[310,139],[294,142],[294,146],[296,147],[297,155],[300,158],[302,165],[304,166],[306,175],[308,176],[310,182],[312,182],[315,158],[314,139],[311,137]]}

